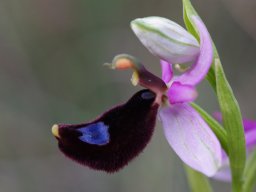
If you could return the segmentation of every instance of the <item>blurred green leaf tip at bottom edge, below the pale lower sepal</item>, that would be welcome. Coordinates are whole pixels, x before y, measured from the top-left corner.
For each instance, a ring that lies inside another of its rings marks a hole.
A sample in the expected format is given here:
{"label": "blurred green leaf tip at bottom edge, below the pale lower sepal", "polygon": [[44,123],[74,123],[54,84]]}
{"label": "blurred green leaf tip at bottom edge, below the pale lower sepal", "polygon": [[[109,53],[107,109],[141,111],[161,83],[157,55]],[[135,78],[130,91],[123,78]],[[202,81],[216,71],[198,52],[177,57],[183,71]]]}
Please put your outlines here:
{"label": "blurred green leaf tip at bottom edge, below the pale lower sepal", "polygon": [[206,176],[184,165],[191,192],[212,192]]}

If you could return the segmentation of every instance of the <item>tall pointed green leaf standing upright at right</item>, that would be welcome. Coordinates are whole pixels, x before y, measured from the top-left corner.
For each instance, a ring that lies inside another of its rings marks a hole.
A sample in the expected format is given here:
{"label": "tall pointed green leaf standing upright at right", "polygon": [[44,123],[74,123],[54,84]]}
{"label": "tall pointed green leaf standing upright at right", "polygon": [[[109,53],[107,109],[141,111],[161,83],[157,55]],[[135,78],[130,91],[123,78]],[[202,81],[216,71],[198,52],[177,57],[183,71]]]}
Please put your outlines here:
{"label": "tall pointed green leaf standing upright at right", "polygon": [[215,59],[217,97],[227,131],[233,191],[241,191],[246,150],[242,116],[237,100],[225,77],[220,60]]}

